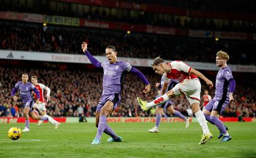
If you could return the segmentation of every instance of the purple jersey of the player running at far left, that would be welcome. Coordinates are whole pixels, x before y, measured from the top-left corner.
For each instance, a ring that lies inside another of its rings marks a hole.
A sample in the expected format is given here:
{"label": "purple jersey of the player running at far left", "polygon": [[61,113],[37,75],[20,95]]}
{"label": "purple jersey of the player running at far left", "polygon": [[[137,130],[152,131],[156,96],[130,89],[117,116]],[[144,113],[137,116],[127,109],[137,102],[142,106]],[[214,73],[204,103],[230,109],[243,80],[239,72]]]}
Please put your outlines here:
{"label": "purple jersey of the player running at far left", "polygon": [[20,98],[22,99],[23,104],[28,101],[33,101],[31,92],[33,89],[35,89],[35,86],[32,83],[22,83],[22,81],[19,81],[16,83],[15,88],[19,90]]}

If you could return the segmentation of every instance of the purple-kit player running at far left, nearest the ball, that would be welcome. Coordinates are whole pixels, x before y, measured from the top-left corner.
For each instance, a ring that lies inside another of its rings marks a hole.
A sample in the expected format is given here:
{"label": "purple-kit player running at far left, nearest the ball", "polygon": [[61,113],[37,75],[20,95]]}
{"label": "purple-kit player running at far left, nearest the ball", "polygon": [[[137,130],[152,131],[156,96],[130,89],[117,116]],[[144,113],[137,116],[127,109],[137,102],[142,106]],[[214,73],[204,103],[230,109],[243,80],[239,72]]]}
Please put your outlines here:
{"label": "purple-kit player running at far left, nearest the ball", "polygon": [[17,96],[15,96],[15,93],[18,90],[20,98],[22,99],[22,104],[24,107],[23,114],[25,116],[25,128],[22,131],[29,131],[29,117],[32,117],[34,120],[48,120],[48,118],[35,115],[35,113],[32,111],[32,106],[35,103],[32,98],[32,91],[37,94],[36,103],[39,102],[40,95],[38,89],[36,89],[32,83],[28,82],[28,73],[22,73],[22,81],[16,83],[12,89],[12,97],[14,101],[17,101],[18,99]]}

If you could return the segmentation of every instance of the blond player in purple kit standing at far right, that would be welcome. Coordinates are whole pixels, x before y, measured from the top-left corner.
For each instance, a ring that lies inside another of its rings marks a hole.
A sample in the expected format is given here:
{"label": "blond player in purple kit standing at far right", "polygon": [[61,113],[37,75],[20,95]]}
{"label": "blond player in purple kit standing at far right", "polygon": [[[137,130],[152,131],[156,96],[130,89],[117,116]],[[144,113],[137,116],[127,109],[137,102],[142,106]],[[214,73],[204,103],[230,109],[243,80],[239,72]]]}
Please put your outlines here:
{"label": "blond player in purple kit standing at far right", "polygon": [[217,52],[216,65],[220,67],[220,70],[216,76],[215,97],[203,109],[203,114],[205,114],[208,122],[216,125],[221,131],[222,135],[218,137],[220,139],[223,136],[221,141],[229,141],[231,136],[224,127],[223,122],[218,118],[218,115],[222,114],[229,102],[234,103],[233,93],[236,88],[236,81],[233,78],[231,69],[227,65],[228,60],[229,56],[226,52]]}

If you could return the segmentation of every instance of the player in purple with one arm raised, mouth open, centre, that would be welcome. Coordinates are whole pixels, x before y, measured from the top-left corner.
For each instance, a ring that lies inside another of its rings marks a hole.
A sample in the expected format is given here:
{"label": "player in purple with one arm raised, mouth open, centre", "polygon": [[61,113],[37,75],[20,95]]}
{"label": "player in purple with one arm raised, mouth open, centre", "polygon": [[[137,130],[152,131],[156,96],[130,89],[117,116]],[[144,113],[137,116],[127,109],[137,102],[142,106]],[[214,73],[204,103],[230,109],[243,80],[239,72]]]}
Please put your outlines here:
{"label": "player in purple with one arm raised, mouth open, centre", "polygon": [[121,100],[122,83],[124,81],[124,75],[127,72],[132,72],[137,75],[145,84],[143,93],[150,91],[150,83],[143,73],[132,67],[129,63],[117,59],[117,51],[114,46],[106,47],[106,60],[105,62],[98,62],[90,52],[87,51],[87,43],[82,43],[82,49],[90,62],[95,67],[102,67],[104,70],[103,75],[103,92],[101,94],[100,102],[96,107],[96,122],[95,125],[98,128],[97,135],[93,139],[92,144],[101,143],[101,135],[106,133],[111,136],[108,142],[121,141],[121,136],[117,136],[116,133],[106,123],[106,117],[108,117]]}

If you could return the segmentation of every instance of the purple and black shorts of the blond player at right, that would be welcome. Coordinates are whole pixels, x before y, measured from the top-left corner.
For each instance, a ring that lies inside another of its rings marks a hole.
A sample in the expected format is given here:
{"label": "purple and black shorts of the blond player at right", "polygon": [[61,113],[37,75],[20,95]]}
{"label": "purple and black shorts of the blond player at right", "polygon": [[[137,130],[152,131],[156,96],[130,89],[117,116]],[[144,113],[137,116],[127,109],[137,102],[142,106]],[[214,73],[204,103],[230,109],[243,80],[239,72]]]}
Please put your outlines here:
{"label": "purple and black shorts of the blond player at right", "polygon": [[223,111],[228,106],[228,104],[229,104],[229,98],[215,97],[210,102],[208,102],[208,104],[205,106],[205,109],[210,112],[212,110],[216,110],[219,112],[219,114],[222,114]]}

